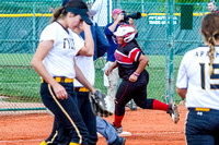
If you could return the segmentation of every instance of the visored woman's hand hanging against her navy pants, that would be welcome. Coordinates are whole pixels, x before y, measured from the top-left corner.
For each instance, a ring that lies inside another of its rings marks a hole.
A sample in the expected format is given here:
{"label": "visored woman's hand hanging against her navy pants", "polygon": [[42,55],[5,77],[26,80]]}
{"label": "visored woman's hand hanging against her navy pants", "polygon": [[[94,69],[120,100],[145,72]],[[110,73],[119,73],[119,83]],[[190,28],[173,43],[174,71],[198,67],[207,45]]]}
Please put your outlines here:
{"label": "visored woman's hand hanging against her navy pants", "polygon": [[66,92],[66,88],[62,87],[59,83],[54,84],[53,88],[54,88],[54,93],[55,93],[55,95],[58,99],[64,100],[64,99],[68,98],[68,94]]}

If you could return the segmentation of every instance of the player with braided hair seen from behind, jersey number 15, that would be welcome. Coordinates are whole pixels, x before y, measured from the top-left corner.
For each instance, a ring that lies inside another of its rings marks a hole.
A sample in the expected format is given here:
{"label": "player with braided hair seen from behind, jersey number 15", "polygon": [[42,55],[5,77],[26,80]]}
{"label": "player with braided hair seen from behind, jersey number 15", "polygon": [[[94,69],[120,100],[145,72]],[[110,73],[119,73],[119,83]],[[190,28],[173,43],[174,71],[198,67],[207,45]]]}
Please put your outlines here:
{"label": "player with braided hair seen from behind, jersey number 15", "polygon": [[205,46],[185,53],[176,90],[186,97],[185,135],[188,145],[219,144],[219,14],[201,21]]}

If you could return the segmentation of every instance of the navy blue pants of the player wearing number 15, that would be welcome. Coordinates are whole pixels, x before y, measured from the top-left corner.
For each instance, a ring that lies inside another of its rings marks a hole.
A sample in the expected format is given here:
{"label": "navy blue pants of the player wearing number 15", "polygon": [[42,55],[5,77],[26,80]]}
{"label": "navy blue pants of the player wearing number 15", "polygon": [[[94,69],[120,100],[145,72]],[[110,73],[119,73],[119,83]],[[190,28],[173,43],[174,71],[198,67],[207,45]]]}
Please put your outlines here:
{"label": "navy blue pants of the player wearing number 15", "polygon": [[219,110],[188,108],[185,135],[188,145],[219,145]]}

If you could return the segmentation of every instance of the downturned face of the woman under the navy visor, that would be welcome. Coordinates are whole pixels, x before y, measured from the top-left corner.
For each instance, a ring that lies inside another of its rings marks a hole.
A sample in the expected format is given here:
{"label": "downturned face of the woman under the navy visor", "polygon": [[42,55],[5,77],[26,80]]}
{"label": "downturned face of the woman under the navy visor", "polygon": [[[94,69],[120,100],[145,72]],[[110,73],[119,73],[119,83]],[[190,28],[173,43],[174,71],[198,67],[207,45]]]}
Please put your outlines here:
{"label": "downturned face of the woman under the navy visor", "polygon": [[67,24],[70,29],[74,29],[76,27],[79,27],[79,25],[83,22],[81,16],[74,15],[73,13],[67,14]]}

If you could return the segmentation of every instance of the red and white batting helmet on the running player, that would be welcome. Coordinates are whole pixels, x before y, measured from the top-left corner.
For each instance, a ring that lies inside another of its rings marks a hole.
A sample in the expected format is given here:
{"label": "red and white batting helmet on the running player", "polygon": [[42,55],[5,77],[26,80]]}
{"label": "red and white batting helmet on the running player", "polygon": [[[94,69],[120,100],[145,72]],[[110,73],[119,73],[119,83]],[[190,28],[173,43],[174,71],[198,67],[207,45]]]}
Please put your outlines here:
{"label": "red and white batting helmet on the running player", "polygon": [[129,43],[135,38],[135,29],[130,25],[124,24],[118,26],[117,31],[114,33],[115,36],[123,36],[125,43]]}

